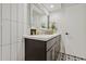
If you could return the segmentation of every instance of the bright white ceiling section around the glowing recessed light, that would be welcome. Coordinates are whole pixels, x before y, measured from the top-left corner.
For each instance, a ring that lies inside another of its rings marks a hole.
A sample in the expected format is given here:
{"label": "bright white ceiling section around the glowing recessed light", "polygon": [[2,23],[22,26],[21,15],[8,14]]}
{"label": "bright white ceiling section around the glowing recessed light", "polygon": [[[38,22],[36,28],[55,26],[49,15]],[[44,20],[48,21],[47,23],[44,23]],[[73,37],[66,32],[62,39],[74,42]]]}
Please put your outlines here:
{"label": "bright white ceiling section around the glowing recessed light", "polygon": [[48,12],[54,12],[61,9],[61,3],[42,3],[42,5]]}

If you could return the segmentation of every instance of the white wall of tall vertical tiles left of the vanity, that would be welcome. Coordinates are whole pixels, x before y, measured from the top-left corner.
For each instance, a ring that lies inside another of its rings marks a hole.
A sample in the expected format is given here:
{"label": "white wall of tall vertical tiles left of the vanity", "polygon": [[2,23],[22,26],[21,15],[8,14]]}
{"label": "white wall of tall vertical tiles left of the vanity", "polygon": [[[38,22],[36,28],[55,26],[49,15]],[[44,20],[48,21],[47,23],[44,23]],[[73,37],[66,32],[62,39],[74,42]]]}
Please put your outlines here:
{"label": "white wall of tall vertical tiles left of the vanity", "polygon": [[0,61],[24,60],[27,5],[0,3]]}

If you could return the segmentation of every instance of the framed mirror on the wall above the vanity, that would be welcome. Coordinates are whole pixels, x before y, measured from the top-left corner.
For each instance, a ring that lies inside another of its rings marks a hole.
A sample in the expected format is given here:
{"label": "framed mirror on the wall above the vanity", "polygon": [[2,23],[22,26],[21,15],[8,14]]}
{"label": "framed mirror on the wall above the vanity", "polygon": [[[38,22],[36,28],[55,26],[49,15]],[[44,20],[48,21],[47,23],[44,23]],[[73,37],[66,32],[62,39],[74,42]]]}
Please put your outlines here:
{"label": "framed mirror on the wall above the vanity", "polygon": [[30,28],[47,28],[48,16],[39,4],[30,3]]}

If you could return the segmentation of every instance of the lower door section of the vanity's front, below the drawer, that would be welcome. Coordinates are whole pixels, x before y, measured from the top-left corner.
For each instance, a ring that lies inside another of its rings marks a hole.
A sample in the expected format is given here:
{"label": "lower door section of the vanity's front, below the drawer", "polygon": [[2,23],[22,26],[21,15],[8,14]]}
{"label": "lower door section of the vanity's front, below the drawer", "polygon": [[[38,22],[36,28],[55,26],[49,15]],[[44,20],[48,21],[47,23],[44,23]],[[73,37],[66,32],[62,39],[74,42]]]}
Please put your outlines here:
{"label": "lower door section of the vanity's front, below the drawer", "polygon": [[47,61],[57,61],[60,52],[59,43],[56,43],[48,52],[47,52]]}

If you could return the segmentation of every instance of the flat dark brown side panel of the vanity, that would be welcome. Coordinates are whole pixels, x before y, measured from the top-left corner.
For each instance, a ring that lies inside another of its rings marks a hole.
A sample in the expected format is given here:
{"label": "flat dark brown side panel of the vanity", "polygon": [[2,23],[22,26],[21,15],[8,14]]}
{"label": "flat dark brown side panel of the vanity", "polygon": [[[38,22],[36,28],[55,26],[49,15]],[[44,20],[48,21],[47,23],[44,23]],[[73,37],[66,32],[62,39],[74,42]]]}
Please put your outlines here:
{"label": "flat dark brown side panel of the vanity", "polygon": [[25,61],[46,61],[46,42],[26,38]]}

